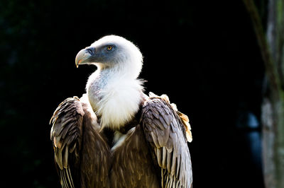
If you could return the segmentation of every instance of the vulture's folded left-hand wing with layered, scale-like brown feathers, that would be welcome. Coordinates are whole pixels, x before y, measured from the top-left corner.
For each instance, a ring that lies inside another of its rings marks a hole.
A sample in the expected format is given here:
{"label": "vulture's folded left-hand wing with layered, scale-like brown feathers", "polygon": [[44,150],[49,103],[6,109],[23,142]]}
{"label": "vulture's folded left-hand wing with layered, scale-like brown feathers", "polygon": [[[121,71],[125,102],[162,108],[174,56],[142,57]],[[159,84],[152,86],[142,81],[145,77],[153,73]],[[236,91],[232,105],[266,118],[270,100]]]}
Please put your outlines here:
{"label": "vulture's folded left-hand wing with layered, scale-like brown feathers", "polygon": [[78,175],[72,177],[70,168],[80,168],[83,117],[80,100],[74,97],[61,102],[50,119],[53,124],[50,139],[53,142],[55,163],[62,187],[75,187],[74,181],[80,181]]}

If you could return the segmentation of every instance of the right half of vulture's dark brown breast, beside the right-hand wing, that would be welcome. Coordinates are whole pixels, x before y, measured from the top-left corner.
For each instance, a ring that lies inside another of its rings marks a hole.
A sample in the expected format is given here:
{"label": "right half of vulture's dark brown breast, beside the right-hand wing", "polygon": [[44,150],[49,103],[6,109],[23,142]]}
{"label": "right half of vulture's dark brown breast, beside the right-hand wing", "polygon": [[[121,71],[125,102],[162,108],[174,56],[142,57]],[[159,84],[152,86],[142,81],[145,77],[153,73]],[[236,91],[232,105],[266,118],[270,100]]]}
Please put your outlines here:
{"label": "right half of vulture's dark brown breast, beside the right-hand wing", "polygon": [[160,187],[141,125],[127,132],[113,156],[111,187]]}

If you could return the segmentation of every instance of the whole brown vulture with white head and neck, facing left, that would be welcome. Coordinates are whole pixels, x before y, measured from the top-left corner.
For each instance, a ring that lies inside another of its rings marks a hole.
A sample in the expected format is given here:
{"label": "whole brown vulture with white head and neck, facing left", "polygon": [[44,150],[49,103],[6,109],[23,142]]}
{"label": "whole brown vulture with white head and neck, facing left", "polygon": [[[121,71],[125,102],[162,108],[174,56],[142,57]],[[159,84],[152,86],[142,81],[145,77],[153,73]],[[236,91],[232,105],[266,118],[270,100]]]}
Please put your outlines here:
{"label": "whole brown vulture with white head and neck, facing left", "polygon": [[62,187],[192,187],[187,116],[167,95],[144,94],[143,56],[107,35],[78,52],[94,64],[86,93],[67,98],[50,119]]}

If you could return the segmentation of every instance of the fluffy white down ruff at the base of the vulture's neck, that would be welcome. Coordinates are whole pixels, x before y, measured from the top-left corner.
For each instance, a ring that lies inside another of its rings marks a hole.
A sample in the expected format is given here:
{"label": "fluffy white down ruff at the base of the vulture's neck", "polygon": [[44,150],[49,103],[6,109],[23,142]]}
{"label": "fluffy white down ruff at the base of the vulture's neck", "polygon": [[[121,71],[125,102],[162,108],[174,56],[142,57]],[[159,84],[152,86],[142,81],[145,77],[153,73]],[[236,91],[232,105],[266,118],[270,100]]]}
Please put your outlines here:
{"label": "fluffy white down ruff at the base of the vulture's neck", "polygon": [[110,81],[101,91],[102,99],[97,106],[101,126],[119,129],[138,112],[141,102],[141,81],[119,78]]}

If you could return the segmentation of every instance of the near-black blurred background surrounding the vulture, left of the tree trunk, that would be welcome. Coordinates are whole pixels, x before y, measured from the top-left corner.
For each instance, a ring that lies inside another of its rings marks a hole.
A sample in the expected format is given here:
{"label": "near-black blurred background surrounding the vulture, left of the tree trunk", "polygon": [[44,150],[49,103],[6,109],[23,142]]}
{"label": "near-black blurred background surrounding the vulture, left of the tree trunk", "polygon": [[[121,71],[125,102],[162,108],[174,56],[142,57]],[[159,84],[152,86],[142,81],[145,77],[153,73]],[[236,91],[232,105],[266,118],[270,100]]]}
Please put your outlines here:
{"label": "near-black blurred background surrounding the vulture, left of the tree trunk", "polygon": [[224,0],[1,0],[1,185],[60,187],[48,123],[96,69],[77,52],[109,34],[141,49],[146,93],[190,117],[193,187],[263,187],[263,61],[243,2]]}

